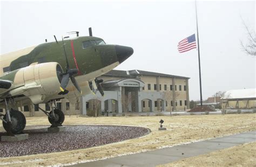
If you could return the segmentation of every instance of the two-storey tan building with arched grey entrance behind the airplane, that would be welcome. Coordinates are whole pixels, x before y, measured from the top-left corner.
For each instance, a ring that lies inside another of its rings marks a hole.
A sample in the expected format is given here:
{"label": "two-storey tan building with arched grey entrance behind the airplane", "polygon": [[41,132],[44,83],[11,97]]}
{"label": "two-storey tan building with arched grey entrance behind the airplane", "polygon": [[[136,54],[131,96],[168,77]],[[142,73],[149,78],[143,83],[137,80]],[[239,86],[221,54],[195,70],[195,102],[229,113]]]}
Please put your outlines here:
{"label": "two-storey tan building with arched grey entrance behind the airplane", "polygon": [[[82,97],[82,114],[92,110],[96,101],[109,112],[153,112],[189,108],[188,77],[143,70],[111,70],[103,79],[104,97]],[[93,105],[91,105],[93,104]]]}

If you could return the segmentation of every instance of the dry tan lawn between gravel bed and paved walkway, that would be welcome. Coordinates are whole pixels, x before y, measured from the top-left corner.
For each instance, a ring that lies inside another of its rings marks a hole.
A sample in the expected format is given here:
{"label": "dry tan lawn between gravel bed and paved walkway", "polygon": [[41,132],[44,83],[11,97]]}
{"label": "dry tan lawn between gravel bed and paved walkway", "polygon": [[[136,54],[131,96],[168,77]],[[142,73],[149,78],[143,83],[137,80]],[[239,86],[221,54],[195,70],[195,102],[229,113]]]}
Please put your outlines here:
{"label": "dry tan lawn between gravel bed and paved walkway", "polygon": [[[205,140],[256,129],[256,114],[187,115],[160,117],[66,117],[64,125],[129,125],[151,129],[149,135],[88,149],[60,153],[0,158],[0,165],[53,165],[92,161],[176,144]],[[167,130],[158,130],[163,119]],[[46,117],[27,118],[27,125],[49,125]]]}

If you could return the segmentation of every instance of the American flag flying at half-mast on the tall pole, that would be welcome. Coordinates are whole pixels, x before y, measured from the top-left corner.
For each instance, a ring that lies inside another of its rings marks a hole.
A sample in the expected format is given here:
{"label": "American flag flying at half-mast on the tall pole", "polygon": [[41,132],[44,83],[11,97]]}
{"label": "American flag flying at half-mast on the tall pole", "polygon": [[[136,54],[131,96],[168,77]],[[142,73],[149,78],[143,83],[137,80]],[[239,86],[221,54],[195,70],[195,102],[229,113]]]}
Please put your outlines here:
{"label": "American flag flying at half-mast on the tall pole", "polygon": [[187,52],[188,50],[197,48],[197,42],[195,35],[190,35],[178,43],[178,51],[179,53]]}

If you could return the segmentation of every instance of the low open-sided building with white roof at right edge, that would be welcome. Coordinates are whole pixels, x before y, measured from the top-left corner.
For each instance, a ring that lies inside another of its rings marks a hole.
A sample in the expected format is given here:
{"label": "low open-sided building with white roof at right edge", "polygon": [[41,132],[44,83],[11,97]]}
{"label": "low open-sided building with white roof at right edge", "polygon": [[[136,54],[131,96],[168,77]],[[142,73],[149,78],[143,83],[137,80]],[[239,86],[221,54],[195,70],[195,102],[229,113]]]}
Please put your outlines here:
{"label": "low open-sided building with white roof at right edge", "polygon": [[226,91],[221,103],[223,108],[256,108],[256,89]]}

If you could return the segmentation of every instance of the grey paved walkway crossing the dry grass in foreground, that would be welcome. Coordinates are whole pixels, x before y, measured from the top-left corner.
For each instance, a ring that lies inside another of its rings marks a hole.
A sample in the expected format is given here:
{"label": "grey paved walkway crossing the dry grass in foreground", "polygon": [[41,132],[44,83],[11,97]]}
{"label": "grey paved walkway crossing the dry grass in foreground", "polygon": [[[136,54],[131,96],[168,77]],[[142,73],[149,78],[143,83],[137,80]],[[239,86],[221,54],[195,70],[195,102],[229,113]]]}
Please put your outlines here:
{"label": "grey paved walkway crossing the dry grass in foreground", "polygon": [[145,153],[126,155],[74,166],[156,166],[171,163],[183,158],[206,154],[211,151],[237,146],[242,143],[255,142],[256,130],[211,140],[174,146],[171,148],[147,151]]}

